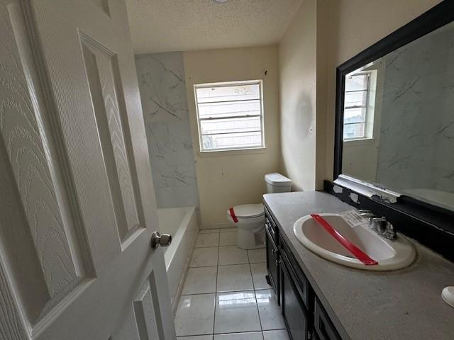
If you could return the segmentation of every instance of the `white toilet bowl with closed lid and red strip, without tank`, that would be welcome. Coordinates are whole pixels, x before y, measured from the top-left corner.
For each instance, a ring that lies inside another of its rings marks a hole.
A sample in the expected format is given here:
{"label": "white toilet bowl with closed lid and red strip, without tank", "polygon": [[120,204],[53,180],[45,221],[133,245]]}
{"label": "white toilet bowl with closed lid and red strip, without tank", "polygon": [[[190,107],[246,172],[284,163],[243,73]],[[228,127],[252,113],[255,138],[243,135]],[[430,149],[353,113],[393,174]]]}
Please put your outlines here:
{"label": "white toilet bowl with closed lid and red strip, without tank", "polygon": [[238,228],[238,248],[265,246],[265,210],[262,203],[236,205],[227,210],[227,219]]}

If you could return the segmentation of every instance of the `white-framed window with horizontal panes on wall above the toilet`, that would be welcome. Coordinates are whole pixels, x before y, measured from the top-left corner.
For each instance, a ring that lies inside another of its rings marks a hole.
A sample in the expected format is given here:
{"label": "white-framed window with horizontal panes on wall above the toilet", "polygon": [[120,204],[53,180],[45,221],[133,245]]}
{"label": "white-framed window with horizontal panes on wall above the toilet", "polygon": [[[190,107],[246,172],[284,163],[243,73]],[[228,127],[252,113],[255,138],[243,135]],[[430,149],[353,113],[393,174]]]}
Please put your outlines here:
{"label": "white-framed window with horizontal panes on wall above the toilet", "polygon": [[201,152],[265,147],[262,81],[194,85]]}

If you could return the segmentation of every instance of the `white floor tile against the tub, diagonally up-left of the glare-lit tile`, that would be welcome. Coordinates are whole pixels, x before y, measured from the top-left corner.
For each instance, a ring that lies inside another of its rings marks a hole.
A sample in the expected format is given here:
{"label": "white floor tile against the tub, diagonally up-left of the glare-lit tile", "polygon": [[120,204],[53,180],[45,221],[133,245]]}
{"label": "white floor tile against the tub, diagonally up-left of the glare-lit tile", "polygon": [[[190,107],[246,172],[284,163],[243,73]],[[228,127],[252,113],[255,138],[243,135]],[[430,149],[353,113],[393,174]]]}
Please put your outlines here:
{"label": "white floor tile against the tub, diagonally up-left of the glare-lit tile", "polygon": [[182,295],[216,293],[217,269],[216,266],[189,268]]}

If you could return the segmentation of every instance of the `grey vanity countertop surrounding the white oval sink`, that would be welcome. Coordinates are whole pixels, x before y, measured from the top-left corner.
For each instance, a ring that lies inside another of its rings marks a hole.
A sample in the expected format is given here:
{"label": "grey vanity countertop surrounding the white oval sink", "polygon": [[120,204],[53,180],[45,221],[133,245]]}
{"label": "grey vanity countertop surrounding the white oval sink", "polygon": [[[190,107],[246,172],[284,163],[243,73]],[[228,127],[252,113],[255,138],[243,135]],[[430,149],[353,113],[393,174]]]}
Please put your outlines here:
{"label": "grey vanity countertop surrounding the white oval sink", "polygon": [[441,290],[454,285],[454,263],[409,239],[417,257],[407,268],[374,272],[341,266],[300,244],[293,224],[312,212],[352,206],[317,191],[272,193],[263,199],[343,339],[454,339],[454,308],[441,298]]}

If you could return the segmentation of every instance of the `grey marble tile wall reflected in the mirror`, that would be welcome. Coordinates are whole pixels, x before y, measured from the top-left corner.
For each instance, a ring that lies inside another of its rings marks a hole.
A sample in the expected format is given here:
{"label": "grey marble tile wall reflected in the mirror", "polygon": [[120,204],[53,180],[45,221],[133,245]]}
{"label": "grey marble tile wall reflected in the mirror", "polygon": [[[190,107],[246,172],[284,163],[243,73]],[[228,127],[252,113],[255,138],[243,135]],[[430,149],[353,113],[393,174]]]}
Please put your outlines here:
{"label": "grey marble tile wall reflected in the mirror", "polygon": [[453,37],[386,57],[377,182],[454,193]]}

